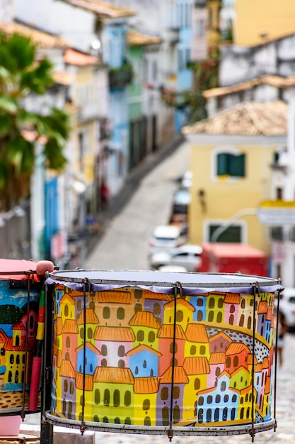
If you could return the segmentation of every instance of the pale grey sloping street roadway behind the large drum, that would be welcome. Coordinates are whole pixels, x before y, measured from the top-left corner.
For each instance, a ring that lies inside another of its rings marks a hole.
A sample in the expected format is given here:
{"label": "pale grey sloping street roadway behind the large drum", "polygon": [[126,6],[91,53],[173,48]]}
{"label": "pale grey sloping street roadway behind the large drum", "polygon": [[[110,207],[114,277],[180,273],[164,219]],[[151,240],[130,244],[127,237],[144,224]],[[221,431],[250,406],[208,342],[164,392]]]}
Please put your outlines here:
{"label": "pale grey sloping street roadway behind the large drum", "polygon": [[141,180],[127,205],[108,223],[85,268],[149,270],[149,236],[155,226],[168,223],[177,179],[188,168],[189,148],[183,143]]}

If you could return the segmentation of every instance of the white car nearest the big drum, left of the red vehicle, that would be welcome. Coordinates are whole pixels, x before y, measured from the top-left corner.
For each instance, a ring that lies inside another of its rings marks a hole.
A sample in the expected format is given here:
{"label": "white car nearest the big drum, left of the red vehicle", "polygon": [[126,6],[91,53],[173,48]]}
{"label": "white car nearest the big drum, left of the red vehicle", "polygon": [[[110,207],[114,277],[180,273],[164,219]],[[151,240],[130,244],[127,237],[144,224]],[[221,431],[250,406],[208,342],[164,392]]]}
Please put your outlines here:
{"label": "white car nearest the big drum, left of the red vehicle", "polygon": [[156,252],[150,258],[152,268],[163,265],[180,265],[188,272],[197,272],[201,265],[202,247],[199,245],[181,245],[169,252]]}

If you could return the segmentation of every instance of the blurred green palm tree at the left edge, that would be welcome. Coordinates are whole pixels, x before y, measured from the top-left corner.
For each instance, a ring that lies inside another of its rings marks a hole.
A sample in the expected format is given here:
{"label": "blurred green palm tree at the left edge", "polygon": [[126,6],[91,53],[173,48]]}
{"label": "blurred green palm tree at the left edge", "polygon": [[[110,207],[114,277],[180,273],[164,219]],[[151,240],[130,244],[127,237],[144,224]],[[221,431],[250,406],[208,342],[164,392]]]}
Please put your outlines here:
{"label": "blurred green palm tree at the left edge", "polygon": [[52,69],[47,57],[37,60],[29,38],[0,34],[0,212],[29,196],[38,138],[44,140],[48,168],[62,170],[66,164],[69,116],[57,108],[40,115],[24,104],[29,94],[40,96],[54,85]]}

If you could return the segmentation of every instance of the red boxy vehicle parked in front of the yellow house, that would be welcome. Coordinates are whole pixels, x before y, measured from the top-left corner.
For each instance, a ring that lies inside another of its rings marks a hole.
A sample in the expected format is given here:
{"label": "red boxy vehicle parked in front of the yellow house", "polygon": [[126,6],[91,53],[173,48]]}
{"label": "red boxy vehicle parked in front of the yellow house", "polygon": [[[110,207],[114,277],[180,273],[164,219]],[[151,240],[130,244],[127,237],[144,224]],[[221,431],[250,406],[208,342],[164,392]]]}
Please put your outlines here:
{"label": "red boxy vehicle parked in front of the yellow house", "polygon": [[262,250],[244,243],[204,243],[199,272],[268,276],[268,257]]}

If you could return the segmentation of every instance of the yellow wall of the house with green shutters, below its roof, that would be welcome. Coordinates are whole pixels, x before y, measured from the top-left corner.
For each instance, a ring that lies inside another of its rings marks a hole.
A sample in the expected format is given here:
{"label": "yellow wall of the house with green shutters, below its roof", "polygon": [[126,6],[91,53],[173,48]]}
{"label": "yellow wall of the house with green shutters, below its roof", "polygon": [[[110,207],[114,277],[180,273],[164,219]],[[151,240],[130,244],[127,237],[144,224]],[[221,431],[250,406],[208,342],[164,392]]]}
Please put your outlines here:
{"label": "yellow wall of the house with green shutters, below its roof", "polygon": [[[270,198],[270,165],[274,151],[285,138],[246,136],[188,136],[191,144],[190,165],[193,174],[192,204],[189,211],[190,243],[208,241],[206,226],[209,222],[221,223],[233,218],[238,211],[256,209],[260,201]],[[236,148],[245,153],[245,177],[242,179],[214,179],[213,151],[217,148]],[[204,190],[201,205],[199,190]],[[238,223],[245,227],[246,243],[270,252],[267,230],[256,216],[245,216]]]}

